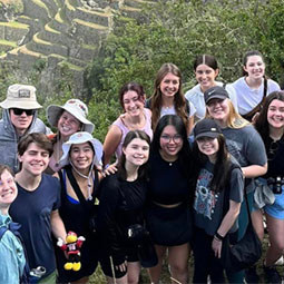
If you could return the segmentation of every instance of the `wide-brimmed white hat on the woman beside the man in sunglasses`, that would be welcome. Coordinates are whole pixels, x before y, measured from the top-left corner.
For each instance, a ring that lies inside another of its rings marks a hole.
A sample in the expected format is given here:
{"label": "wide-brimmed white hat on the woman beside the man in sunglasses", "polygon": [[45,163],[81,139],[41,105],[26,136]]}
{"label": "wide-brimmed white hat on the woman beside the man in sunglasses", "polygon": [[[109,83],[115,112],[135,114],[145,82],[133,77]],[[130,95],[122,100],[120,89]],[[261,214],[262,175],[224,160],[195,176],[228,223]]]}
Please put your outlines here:
{"label": "wide-brimmed white hat on the woman beside the man in sunglasses", "polygon": [[70,112],[82,124],[82,131],[90,134],[94,131],[94,124],[87,119],[88,107],[79,99],[69,99],[62,107],[56,105],[49,106],[47,108],[47,118],[51,126],[57,127],[58,119],[63,110]]}

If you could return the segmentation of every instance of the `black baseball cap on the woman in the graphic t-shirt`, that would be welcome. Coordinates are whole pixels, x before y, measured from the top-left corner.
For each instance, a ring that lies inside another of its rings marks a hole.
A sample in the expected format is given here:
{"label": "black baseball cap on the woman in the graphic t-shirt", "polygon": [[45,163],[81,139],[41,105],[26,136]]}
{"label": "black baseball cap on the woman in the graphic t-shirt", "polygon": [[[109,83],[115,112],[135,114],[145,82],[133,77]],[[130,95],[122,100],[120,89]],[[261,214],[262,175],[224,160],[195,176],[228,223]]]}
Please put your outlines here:
{"label": "black baseball cap on the woman in the graphic t-shirt", "polygon": [[204,118],[194,127],[195,139],[202,137],[217,138],[222,134],[219,126],[210,118]]}

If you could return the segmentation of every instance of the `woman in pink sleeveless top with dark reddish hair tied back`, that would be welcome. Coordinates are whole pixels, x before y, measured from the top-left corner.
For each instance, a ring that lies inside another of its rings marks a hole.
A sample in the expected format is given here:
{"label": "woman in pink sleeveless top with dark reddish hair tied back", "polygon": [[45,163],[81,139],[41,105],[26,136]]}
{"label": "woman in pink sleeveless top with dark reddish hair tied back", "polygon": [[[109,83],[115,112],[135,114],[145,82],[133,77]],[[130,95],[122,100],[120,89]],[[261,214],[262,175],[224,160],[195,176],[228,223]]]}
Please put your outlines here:
{"label": "woman in pink sleeveless top with dark reddish hair tied back", "polygon": [[144,108],[145,92],[137,82],[128,82],[119,91],[120,105],[124,114],[110,126],[104,143],[104,165],[110,163],[116,154],[117,160],[123,153],[123,144],[130,130],[144,130],[151,139],[151,112]]}

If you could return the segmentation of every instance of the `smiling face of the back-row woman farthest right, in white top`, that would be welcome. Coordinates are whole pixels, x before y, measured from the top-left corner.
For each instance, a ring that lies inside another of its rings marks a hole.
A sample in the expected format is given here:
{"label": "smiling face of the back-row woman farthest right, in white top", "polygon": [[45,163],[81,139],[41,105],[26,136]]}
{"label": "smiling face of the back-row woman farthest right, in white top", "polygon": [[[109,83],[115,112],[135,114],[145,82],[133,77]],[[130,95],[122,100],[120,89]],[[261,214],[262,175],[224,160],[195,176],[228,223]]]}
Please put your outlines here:
{"label": "smiling face of the back-row woman farthest right, in white top", "polygon": [[265,72],[265,63],[261,56],[249,56],[247,57],[244,70],[247,72],[247,77],[257,80],[263,78]]}

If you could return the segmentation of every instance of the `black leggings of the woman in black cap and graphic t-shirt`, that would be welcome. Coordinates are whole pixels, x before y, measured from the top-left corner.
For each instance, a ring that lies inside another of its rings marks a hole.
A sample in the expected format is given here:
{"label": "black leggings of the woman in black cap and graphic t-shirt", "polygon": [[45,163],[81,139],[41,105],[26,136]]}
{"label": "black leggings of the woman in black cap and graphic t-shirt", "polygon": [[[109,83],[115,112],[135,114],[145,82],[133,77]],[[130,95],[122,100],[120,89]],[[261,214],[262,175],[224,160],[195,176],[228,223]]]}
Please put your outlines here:
{"label": "black leggings of the woman in black cap and graphic t-shirt", "polygon": [[213,283],[225,283],[224,268],[219,258],[214,256],[212,249],[213,236],[204,229],[195,227],[193,251],[194,251],[194,283],[207,283],[208,275]]}

